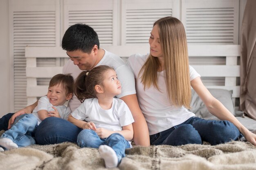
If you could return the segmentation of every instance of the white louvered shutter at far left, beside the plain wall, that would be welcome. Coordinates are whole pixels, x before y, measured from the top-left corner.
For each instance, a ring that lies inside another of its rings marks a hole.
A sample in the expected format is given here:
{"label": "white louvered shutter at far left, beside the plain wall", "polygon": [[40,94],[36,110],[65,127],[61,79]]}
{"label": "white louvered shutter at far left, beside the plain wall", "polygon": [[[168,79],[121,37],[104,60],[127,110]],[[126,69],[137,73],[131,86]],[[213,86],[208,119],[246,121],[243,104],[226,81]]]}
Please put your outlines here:
{"label": "white louvered shutter at far left, beside the plain wall", "polygon": [[60,25],[58,4],[59,0],[9,1],[15,111],[27,106],[25,47],[59,45],[59,35],[56,34]]}

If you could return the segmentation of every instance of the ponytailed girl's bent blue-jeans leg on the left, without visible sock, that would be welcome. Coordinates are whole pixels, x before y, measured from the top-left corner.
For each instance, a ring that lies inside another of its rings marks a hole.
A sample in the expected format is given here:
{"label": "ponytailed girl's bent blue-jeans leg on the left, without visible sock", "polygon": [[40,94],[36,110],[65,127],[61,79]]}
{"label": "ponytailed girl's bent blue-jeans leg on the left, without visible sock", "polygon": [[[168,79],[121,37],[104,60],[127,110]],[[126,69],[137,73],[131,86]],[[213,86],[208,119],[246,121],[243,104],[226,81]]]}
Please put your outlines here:
{"label": "ponytailed girl's bent blue-jeans leg on the left, without visible sock", "polygon": [[77,136],[77,145],[81,148],[99,148],[104,141],[105,139],[100,139],[98,134],[90,129],[82,130]]}

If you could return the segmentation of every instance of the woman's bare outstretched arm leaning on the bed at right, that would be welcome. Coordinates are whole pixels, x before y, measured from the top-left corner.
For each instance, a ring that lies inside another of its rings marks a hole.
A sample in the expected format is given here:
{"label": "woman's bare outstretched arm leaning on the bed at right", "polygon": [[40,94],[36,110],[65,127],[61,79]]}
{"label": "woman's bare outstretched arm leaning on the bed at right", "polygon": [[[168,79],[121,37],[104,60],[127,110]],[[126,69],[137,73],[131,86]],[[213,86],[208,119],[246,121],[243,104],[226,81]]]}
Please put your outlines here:
{"label": "woman's bare outstretched arm leaning on the bed at right", "polygon": [[208,89],[203,85],[200,77],[194,78],[191,81],[191,86],[202,99],[207,109],[211,114],[218,117],[221,120],[227,120],[232,122],[238,130],[245,136],[245,139],[250,143],[256,145],[256,134],[250,132],[245,126],[243,126],[236,117],[227,110],[227,108],[214,98]]}

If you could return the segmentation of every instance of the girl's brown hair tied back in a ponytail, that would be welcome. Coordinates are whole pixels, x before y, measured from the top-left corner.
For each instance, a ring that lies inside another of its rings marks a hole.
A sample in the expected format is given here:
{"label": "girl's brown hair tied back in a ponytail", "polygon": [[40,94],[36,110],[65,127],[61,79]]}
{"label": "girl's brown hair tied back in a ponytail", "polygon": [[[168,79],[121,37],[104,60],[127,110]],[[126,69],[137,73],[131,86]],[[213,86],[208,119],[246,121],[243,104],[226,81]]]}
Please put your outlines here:
{"label": "girl's brown hair tied back in a ponytail", "polygon": [[105,78],[104,74],[110,69],[113,68],[107,65],[100,65],[94,67],[90,72],[84,71],[79,74],[74,85],[74,94],[79,99],[79,101],[81,101],[81,103],[86,98],[97,97],[95,86],[103,86],[103,80]]}

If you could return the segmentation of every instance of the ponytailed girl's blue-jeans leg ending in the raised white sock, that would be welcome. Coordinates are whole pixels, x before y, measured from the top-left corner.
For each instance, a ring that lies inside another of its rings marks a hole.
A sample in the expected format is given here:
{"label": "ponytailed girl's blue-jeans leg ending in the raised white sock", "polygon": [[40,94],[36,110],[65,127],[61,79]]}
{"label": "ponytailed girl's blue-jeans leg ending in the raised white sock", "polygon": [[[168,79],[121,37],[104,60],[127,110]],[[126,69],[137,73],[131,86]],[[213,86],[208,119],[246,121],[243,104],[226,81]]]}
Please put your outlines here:
{"label": "ponytailed girl's blue-jeans leg ending in the raised white sock", "polygon": [[110,146],[115,150],[117,154],[118,163],[121,162],[121,159],[125,157],[125,149],[130,148],[130,143],[126,141],[123,135],[119,133],[113,133],[106,138],[106,145]]}

